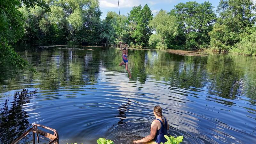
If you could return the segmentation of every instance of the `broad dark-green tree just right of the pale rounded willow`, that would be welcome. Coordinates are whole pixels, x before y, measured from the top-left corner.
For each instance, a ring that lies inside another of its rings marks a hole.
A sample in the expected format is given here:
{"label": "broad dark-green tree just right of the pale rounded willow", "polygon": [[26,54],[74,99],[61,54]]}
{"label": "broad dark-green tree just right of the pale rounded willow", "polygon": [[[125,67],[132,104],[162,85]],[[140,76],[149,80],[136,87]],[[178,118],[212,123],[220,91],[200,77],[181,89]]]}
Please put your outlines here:
{"label": "broad dark-green tree just right of the pale rounded willow", "polygon": [[196,49],[209,44],[208,32],[216,21],[216,14],[210,2],[199,4],[197,2],[179,3],[171,11],[179,23],[179,28],[184,32],[185,47]]}

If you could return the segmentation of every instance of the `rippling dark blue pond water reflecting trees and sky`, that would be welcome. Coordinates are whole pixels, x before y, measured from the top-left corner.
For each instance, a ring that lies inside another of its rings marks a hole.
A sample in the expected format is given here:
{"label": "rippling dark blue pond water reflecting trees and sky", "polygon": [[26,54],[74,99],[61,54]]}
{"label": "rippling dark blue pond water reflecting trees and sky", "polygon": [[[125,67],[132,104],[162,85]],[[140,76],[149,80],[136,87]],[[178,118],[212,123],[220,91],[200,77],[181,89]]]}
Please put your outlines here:
{"label": "rippling dark blue pond water reflecting trees and sky", "polygon": [[[0,143],[32,124],[56,129],[60,143],[130,144],[150,132],[160,105],[183,143],[256,143],[256,59],[129,50],[132,78],[118,49],[16,47],[36,69],[1,68]],[[28,89],[24,96],[15,92]],[[35,91],[35,89],[37,89]],[[21,143],[31,143],[28,135]]]}

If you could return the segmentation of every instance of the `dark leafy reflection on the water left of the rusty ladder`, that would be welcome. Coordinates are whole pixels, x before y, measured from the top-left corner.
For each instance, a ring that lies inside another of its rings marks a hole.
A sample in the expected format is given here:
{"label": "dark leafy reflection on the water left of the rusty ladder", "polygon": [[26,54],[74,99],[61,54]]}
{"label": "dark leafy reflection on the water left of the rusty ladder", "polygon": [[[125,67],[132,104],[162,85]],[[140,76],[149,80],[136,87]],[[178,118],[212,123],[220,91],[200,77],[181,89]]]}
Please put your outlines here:
{"label": "dark leafy reflection on the water left of the rusty ladder", "polygon": [[22,93],[13,95],[13,99],[4,99],[3,106],[0,107],[1,143],[11,143],[30,126],[28,113],[23,108],[25,104],[30,103],[30,96],[31,94]]}

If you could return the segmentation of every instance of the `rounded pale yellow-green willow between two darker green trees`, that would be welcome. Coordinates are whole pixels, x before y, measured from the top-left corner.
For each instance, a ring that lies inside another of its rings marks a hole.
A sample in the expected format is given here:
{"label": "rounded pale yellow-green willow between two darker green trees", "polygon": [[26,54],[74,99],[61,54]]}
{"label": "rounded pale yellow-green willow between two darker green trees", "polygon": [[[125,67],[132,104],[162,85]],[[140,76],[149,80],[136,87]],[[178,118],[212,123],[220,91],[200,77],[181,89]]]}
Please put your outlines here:
{"label": "rounded pale yellow-green willow between two darker green trees", "polygon": [[150,20],[149,27],[156,31],[150,36],[148,44],[158,49],[166,49],[171,46],[171,41],[178,35],[178,22],[166,11],[159,11],[153,20]]}

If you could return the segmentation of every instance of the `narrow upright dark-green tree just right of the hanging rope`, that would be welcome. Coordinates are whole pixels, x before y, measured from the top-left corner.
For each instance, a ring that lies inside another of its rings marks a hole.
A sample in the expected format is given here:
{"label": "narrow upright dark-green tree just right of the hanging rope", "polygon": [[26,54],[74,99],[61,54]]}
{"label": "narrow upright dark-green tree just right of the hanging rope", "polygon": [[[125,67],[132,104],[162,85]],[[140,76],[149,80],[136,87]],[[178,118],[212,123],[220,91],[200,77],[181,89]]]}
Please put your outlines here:
{"label": "narrow upright dark-green tree just right of the hanging rope", "polygon": [[149,21],[153,19],[148,4],[143,8],[141,5],[134,6],[129,13],[128,20],[132,29],[131,36],[134,43],[141,46],[147,46],[149,37],[152,35],[151,29],[148,27]]}

